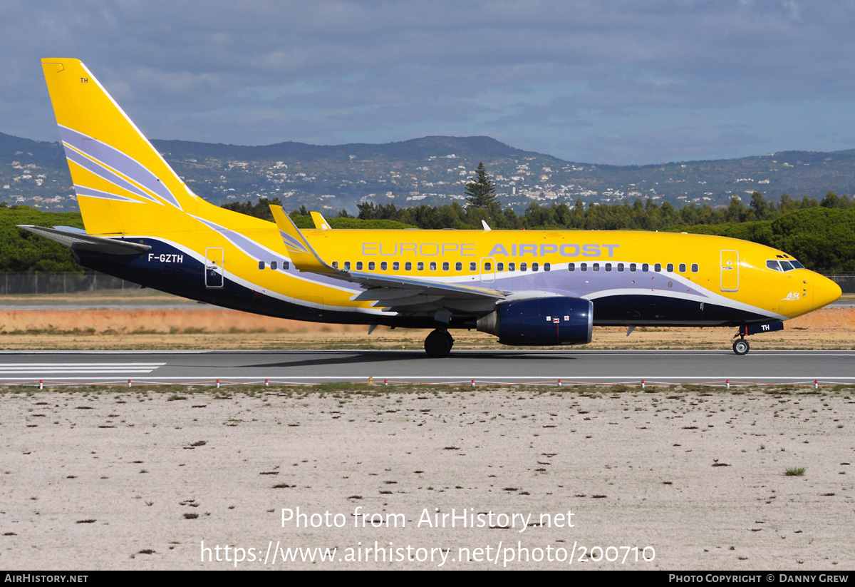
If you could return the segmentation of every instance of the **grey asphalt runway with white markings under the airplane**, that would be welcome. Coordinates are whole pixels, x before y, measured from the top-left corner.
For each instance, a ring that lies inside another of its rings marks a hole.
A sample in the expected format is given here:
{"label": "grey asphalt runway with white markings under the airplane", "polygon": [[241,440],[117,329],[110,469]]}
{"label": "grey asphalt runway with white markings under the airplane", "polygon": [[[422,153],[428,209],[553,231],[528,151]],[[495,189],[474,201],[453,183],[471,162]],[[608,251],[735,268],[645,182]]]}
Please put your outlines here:
{"label": "grey asphalt runway with white markings under the airplane", "polygon": [[855,351],[26,351],[0,353],[0,384],[855,383]]}

